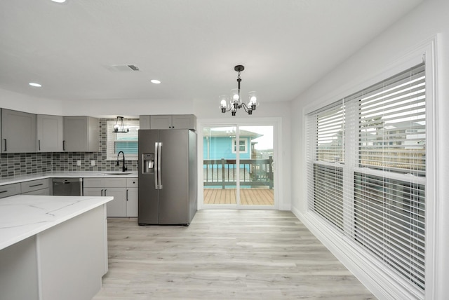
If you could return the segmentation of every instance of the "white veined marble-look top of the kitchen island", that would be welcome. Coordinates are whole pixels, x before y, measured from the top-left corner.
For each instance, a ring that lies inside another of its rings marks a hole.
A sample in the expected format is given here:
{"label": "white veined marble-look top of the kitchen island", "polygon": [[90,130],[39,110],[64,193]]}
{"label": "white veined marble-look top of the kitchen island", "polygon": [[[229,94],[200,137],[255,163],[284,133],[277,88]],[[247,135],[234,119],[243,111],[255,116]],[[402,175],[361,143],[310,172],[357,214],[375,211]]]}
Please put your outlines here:
{"label": "white veined marble-look top of the kitchen island", "polygon": [[2,198],[0,250],[113,199],[113,197],[29,195]]}

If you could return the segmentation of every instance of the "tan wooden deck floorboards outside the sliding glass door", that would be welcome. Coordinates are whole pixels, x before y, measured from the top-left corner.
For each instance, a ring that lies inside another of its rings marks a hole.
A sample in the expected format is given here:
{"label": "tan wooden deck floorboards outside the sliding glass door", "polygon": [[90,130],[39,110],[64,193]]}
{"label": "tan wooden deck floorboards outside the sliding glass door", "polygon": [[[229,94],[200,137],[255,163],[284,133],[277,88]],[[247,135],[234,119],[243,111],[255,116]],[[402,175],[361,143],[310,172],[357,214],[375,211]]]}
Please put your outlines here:
{"label": "tan wooden deck floorboards outside the sliding glass door", "polygon": [[[240,189],[241,205],[274,205],[274,189]],[[236,204],[236,189],[204,189],[204,204]]]}

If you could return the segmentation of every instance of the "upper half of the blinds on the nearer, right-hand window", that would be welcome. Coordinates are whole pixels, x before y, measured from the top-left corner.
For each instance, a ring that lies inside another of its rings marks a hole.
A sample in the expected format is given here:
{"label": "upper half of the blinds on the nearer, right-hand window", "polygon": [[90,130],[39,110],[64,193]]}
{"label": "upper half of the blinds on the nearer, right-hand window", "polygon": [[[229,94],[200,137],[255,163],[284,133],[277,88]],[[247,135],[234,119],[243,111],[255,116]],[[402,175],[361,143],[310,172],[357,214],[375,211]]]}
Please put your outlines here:
{"label": "upper half of the blinds on the nearer, right-hand window", "polygon": [[424,65],[360,97],[361,168],[425,175],[425,97]]}

